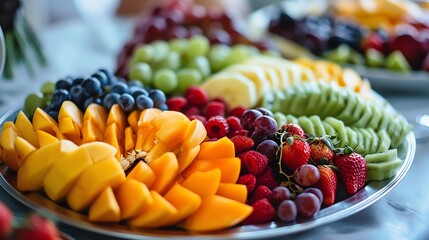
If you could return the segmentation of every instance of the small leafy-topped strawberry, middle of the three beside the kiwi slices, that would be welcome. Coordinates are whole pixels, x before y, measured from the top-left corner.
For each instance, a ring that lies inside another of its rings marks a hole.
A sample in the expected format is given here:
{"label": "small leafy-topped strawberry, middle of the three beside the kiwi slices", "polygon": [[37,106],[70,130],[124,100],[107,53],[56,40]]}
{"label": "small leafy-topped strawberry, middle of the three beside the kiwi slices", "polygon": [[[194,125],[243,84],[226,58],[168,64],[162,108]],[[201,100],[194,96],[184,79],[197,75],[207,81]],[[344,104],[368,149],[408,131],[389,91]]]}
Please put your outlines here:
{"label": "small leafy-topped strawberry, middle of the three beside the kiwi slices", "polygon": [[334,145],[331,139],[314,138],[309,142],[310,144],[310,158],[316,164],[328,164],[334,158]]}

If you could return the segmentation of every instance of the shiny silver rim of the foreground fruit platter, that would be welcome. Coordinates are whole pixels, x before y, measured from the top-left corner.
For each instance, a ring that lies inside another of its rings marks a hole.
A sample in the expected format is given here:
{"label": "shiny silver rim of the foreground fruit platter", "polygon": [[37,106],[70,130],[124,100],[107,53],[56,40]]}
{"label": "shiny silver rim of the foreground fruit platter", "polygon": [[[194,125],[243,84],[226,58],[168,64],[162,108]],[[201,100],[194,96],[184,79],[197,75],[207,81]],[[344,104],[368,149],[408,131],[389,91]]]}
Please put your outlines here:
{"label": "shiny silver rim of the foreground fruit platter", "polygon": [[[13,114],[17,114],[18,111],[22,109],[22,105],[16,105],[12,108],[10,108],[8,111],[6,111],[4,114],[0,116],[0,126],[3,125],[3,123],[10,118]],[[363,201],[353,203],[351,206],[348,206],[346,208],[341,208],[340,205],[342,203],[346,203],[350,199],[353,199],[357,197],[360,193],[366,193],[366,189],[371,187],[371,185],[376,185],[377,183],[382,183],[384,181],[370,181],[368,182],[365,187],[361,190],[359,190],[355,195],[344,199],[330,207],[322,209],[319,213],[328,210],[338,210],[334,213],[327,214],[322,217],[318,217],[316,219],[308,219],[307,221],[303,223],[295,223],[292,225],[286,225],[286,226],[278,226],[273,227],[272,222],[271,224],[263,224],[263,225],[250,225],[247,227],[255,227],[256,229],[250,229],[251,231],[238,231],[238,232],[227,232],[222,233],[222,231],[216,232],[216,234],[192,234],[190,232],[187,232],[187,234],[183,235],[162,235],[162,234],[151,234],[147,233],[144,234],[142,232],[130,232],[130,231],[118,231],[115,229],[109,229],[106,227],[103,227],[100,225],[100,227],[93,227],[93,225],[98,225],[97,223],[91,223],[82,221],[79,219],[73,219],[69,216],[66,216],[65,214],[61,214],[58,212],[55,212],[54,210],[48,209],[45,206],[41,206],[35,202],[33,202],[31,199],[27,199],[20,191],[15,189],[13,186],[9,184],[9,182],[5,179],[3,174],[0,173],[0,186],[9,194],[11,195],[15,200],[21,202],[31,210],[38,212],[40,214],[49,214],[51,216],[54,216],[57,221],[66,224],[68,226],[75,227],[76,229],[86,230],[89,232],[106,235],[110,237],[119,237],[119,238],[126,238],[126,239],[141,239],[142,237],[145,237],[147,239],[160,239],[169,237],[172,239],[183,239],[183,238],[206,238],[206,239],[266,239],[269,237],[280,237],[280,236],[286,236],[290,234],[299,233],[305,230],[309,230],[327,223],[331,223],[334,221],[341,220],[343,218],[346,218],[348,216],[351,216],[359,211],[364,210],[365,208],[369,207],[370,205],[374,204],[376,201],[381,199],[383,196],[385,196],[388,192],[393,190],[400,182],[401,180],[406,176],[408,173],[412,162],[414,160],[414,156],[416,153],[416,138],[414,135],[414,132],[411,131],[405,138],[404,143],[407,144],[406,148],[406,154],[404,156],[404,159],[401,159],[403,161],[403,164],[401,168],[398,170],[398,172],[395,174],[394,177],[384,180],[388,181],[385,186],[381,187],[380,189],[375,190],[374,192],[370,193],[369,196],[367,196]],[[58,205],[58,204],[57,204]],[[336,209],[339,208],[339,209]],[[275,224],[275,223],[274,223]],[[242,226],[241,228],[246,227]],[[233,227],[229,230],[238,229],[240,227]]]}

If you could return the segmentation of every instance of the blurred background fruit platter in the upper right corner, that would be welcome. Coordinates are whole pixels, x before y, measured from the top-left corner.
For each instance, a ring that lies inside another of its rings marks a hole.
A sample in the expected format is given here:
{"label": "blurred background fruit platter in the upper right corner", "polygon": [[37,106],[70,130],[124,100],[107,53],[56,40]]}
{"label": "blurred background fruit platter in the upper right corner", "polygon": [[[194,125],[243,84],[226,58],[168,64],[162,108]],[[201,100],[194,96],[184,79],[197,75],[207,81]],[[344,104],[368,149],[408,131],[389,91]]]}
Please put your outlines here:
{"label": "blurred background fruit platter in the upper right corner", "polygon": [[249,22],[288,58],[351,67],[375,89],[422,92],[429,84],[426,16],[411,1],[293,0],[257,10]]}

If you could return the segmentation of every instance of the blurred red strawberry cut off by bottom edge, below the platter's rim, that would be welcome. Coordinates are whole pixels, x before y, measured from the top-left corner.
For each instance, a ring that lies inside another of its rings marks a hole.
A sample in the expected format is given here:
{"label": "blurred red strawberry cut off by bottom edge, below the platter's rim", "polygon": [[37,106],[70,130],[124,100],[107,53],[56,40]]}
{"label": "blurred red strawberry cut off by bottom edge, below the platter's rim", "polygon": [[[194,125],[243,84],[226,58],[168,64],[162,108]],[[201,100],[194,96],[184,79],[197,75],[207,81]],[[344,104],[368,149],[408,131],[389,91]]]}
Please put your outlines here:
{"label": "blurred red strawberry cut off by bottom edge, below the platter's rim", "polygon": [[30,215],[24,226],[17,232],[18,240],[57,240],[60,239],[55,224],[37,214]]}

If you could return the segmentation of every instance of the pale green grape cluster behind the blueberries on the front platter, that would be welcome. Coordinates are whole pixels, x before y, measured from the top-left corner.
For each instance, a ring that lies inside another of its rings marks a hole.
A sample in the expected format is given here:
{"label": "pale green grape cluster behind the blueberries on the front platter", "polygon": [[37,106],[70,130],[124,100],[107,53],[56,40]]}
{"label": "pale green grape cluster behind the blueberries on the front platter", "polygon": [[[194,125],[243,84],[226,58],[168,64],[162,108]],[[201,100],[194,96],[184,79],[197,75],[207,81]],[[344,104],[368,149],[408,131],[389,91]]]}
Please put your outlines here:
{"label": "pale green grape cluster behind the blueberries on the front platter", "polygon": [[135,49],[127,77],[161,89],[166,94],[183,94],[212,73],[259,54],[275,53],[260,52],[254,46],[243,44],[232,47],[210,45],[209,39],[200,35],[190,39],[157,40]]}

